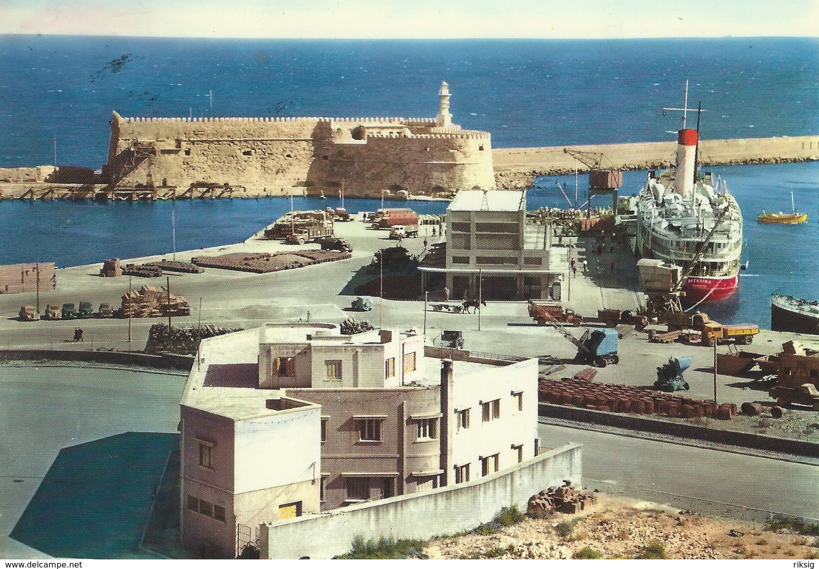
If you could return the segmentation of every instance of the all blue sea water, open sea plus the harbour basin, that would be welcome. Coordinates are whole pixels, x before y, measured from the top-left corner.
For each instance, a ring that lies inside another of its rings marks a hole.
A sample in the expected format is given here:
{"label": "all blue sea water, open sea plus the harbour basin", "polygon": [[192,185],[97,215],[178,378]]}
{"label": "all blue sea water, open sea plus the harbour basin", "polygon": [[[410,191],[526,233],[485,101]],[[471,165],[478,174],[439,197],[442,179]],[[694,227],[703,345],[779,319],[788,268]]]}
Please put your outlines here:
{"label": "all blue sea water, open sea plus the harbour basin", "polygon": [[[673,139],[686,80],[704,139],[819,134],[819,39],[147,39],[0,35],[0,167],[106,162],[122,116],[435,116],[441,81],[453,121],[494,148]],[[689,115],[691,120],[691,116]],[[819,137],[817,137],[819,138]],[[819,139],[817,139],[819,146]],[[819,153],[819,152],[817,152]],[[671,157],[669,157],[671,158]],[[713,166],[744,214],[740,292],[708,307],[770,324],[771,293],[819,298],[817,162]],[[646,172],[627,172],[622,194]],[[582,203],[587,178],[578,176]],[[574,176],[543,176],[528,207],[571,207]],[[762,209],[810,214],[759,225]],[[564,195],[565,194],[565,195]],[[296,209],[337,207],[293,199]],[[387,200],[385,207],[405,206]],[[351,212],[381,200],[346,198]],[[110,257],[237,243],[291,207],[286,198],[175,203],[0,202],[0,264],[77,266]],[[414,202],[422,213],[446,203]],[[172,244],[171,213],[175,245]]]}

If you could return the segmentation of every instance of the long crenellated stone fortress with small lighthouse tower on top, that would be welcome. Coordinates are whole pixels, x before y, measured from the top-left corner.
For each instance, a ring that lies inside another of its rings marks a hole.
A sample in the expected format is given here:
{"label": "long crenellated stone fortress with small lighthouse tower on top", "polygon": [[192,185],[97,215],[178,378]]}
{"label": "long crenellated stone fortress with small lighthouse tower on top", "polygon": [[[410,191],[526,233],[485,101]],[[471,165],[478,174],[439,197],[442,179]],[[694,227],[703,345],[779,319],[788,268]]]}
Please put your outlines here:
{"label": "long crenellated stone fortress with small lighthouse tower on top", "polygon": [[106,175],[119,187],[230,184],[260,195],[432,195],[492,189],[488,132],[435,118],[126,118],[111,121]]}

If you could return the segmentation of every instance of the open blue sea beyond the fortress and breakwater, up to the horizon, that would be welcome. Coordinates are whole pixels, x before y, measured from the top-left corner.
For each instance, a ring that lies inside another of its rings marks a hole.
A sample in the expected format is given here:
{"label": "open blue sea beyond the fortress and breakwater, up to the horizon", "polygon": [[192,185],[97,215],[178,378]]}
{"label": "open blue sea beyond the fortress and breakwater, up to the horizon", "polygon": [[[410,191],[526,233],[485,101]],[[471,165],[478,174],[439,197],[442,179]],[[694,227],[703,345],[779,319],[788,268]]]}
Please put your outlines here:
{"label": "open blue sea beyond the fortress and breakwater, up to the horizon", "polygon": [[[819,39],[274,40],[0,36],[0,166],[106,162],[123,116],[435,116],[495,147],[819,133]],[[212,105],[210,91],[213,92]]]}

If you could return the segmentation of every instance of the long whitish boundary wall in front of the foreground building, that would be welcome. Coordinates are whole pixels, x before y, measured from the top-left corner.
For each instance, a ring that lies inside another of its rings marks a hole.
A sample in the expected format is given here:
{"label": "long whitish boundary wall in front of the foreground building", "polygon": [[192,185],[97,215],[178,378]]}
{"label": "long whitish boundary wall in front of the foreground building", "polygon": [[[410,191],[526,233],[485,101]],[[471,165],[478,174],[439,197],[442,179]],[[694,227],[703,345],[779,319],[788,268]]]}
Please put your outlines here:
{"label": "long whitish boundary wall in front of the foreground building", "polygon": [[517,504],[525,511],[532,494],[563,480],[580,485],[581,458],[581,445],[567,444],[464,484],[262,524],[261,558],[332,558],[350,551],[357,535],[365,541],[428,539],[470,530],[504,506]]}

